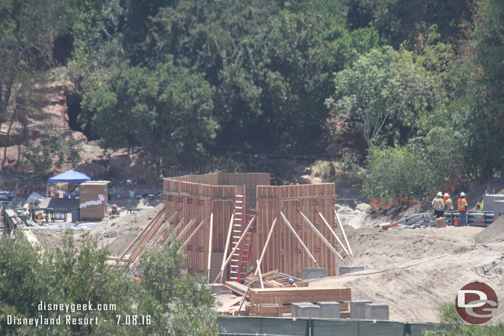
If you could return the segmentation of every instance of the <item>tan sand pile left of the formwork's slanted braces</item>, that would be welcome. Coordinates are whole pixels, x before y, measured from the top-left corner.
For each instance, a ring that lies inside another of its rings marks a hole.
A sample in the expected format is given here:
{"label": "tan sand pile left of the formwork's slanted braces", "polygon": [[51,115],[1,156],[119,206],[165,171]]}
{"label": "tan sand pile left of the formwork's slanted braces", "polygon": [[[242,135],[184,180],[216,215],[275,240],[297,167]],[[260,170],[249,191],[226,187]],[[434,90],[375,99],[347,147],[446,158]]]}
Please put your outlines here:
{"label": "tan sand pile left of the formwork's slanted braces", "polygon": [[142,209],[128,216],[107,219],[94,225],[90,231],[98,235],[102,246],[108,246],[111,255],[118,256],[162,209],[163,204],[159,204],[155,208]]}

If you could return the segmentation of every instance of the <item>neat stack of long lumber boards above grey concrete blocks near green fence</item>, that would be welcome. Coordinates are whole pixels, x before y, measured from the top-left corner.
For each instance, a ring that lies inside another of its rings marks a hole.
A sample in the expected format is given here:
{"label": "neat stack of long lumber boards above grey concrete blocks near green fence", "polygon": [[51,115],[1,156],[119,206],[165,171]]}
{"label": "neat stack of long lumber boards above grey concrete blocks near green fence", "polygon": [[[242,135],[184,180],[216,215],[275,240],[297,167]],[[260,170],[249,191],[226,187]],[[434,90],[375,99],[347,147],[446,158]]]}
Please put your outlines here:
{"label": "neat stack of long lumber boards above grey concrete blocks near green fence", "polygon": [[253,312],[259,311],[259,306],[261,305],[278,304],[278,302],[283,303],[283,313],[290,313],[290,304],[294,302],[340,302],[340,310],[343,317],[347,315],[346,313],[349,310],[349,302],[352,300],[352,289],[348,286],[254,288],[248,292],[248,298]]}

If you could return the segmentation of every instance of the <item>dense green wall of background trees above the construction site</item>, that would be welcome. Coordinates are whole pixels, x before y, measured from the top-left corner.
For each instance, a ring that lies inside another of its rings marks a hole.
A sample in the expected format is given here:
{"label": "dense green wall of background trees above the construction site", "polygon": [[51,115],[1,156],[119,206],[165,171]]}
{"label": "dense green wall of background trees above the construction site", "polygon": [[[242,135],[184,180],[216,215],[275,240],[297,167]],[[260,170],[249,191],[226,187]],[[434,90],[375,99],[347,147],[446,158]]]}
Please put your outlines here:
{"label": "dense green wall of background trees above the construction site", "polygon": [[[24,3],[31,21],[17,2],[0,8],[0,86],[6,71],[21,83],[42,69],[28,65],[48,60],[54,36],[70,32],[81,124],[106,147],[140,147],[157,168],[201,164],[214,146],[323,151],[341,142],[368,155],[370,174],[383,164],[375,149],[414,153],[432,183],[412,197],[453,176],[502,172],[498,0]],[[44,29],[16,65],[16,41],[29,36],[16,29],[36,26],[35,13]],[[401,192],[367,181],[370,195]]]}

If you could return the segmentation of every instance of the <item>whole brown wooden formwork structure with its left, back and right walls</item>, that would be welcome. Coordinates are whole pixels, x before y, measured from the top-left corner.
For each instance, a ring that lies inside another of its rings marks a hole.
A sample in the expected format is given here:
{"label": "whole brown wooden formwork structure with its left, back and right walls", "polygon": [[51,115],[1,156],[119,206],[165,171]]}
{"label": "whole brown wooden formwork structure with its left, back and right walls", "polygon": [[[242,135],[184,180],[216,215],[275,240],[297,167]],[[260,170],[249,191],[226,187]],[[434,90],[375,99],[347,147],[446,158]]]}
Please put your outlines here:
{"label": "whole brown wooden formwork structure with its left, back and right walls", "polygon": [[[256,177],[253,175],[256,175]],[[230,185],[205,184],[204,181],[218,184],[229,183]],[[257,185],[257,182],[268,183],[265,183],[266,185]],[[231,183],[243,184],[232,185]],[[224,252],[229,222],[234,210],[234,197],[236,194],[243,194],[247,199],[248,193],[253,190],[255,196],[257,192],[254,203],[257,201],[258,217],[250,256],[251,263],[256,264],[255,260],[259,259],[261,255],[273,220],[278,218],[261,265],[262,272],[266,273],[278,268],[282,273],[300,277],[302,268],[317,267],[283,222],[280,216],[280,211],[282,211],[316,258],[319,266],[326,268],[326,276],[336,275],[335,256],[312,229],[303,222],[298,212],[300,210],[330,242],[334,242],[329,229],[317,214],[320,211],[328,223],[334,226],[334,183],[291,186],[269,186],[268,184],[269,174],[207,174],[195,175],[194,178],[181,176],[165,179],[164,204],[166,217],[169,218],[178,210],[177,215],[169,225],[176,228],[183,219],[183,224],[178,230],[180,232],[188,222],[198,216],[197,223],[192,225],[191,229],[180,238],[180,242],[183,243],[190,237],[201,221],[213,212],[212,252],[222,253]],[[201,230],[184,247],[184,252],[188,256],[185,267],[193,274],[206,275],[209,238],[210,218],[206,220]],[[230,248],[227,252],[230,252]],[[220,262],[218,264],[220,265]],[[212,273],[215,274],[215,272]],[[227,279],[227,277],[228,272],[226,270],[224,279]]]}

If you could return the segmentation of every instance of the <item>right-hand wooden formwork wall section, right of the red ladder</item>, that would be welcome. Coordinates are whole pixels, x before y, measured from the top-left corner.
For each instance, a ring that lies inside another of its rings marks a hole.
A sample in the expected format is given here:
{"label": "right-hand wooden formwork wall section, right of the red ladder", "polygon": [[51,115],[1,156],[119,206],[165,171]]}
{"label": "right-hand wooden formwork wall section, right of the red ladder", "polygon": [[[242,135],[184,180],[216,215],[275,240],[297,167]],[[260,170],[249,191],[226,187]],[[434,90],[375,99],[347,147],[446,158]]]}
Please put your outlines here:
{"label": "right-hand wooden formwork wall section, right of the red ladder", "polygon": [[254,234],[251,259],[259,259],[273,221],[277,218],[271,241],[261,264],[261,271],[266,273],[278,269],[281,273],[301,277],[302,268],[318,267],[284,223],[280,216],[280,212],[283,212],[319,266],[326,268],[326,276],[335,276],[335,255],[299,214],[301,211],[324,237],[333,243],[334,238],[318,212],[321,212],[329,225],[335,228],[334,204],[334,183],[258,186],[258,227]]}

